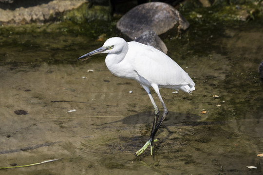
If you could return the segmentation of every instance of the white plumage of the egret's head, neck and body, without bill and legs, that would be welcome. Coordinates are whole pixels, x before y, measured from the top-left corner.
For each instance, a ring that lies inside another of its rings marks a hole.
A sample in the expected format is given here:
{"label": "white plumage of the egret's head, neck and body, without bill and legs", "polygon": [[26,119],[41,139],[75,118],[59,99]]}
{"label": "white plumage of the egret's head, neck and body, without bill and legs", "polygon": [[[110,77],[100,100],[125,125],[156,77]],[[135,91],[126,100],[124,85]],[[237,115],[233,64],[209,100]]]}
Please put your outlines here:
{"label": "white plumage of the egret's head, neck and body, without bill and legs", "polygon": [[127,43],[119,37],[108,39],[103,46],[113,43],[116,44],[112,51],[108,50],[105,62],[114,75],[136,80],[148,87],[156,84],[160,88],[180,89],[188,93],[195,89],[188,73],[165,53],[135,41]]}

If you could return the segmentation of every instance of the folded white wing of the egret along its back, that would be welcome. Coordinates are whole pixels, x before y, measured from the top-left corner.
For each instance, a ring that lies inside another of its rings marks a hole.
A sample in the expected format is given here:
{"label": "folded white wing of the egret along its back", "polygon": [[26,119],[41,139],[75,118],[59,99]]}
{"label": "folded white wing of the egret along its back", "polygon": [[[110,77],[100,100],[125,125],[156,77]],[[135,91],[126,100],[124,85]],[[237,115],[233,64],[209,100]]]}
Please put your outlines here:
{"label": "folded white wing of the egret along its back", "polygon": [[188,73],[165,53],[152,46],[138,42],[129,42],[128,44],[129,51],[126,55],[132,57],[129,56],[130,64],[150,84],[153,83],[159,86],[195,86]]}

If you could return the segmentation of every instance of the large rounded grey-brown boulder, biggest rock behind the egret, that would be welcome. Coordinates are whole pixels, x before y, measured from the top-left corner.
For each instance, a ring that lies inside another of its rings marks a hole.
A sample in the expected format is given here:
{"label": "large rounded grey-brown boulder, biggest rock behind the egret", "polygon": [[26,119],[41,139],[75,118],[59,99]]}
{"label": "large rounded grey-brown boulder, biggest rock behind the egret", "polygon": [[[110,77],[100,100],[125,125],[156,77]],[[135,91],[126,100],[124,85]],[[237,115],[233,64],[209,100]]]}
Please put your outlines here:
{"label": "large rounded grey-brown boulder, biggest rock behind the egret", "polygon": [[117,22],[117,28],[132,40],[149,30],[163,34],[175,25],[183,30],[189,27],[188,21],[175,8],[163,2],[138,5]]}

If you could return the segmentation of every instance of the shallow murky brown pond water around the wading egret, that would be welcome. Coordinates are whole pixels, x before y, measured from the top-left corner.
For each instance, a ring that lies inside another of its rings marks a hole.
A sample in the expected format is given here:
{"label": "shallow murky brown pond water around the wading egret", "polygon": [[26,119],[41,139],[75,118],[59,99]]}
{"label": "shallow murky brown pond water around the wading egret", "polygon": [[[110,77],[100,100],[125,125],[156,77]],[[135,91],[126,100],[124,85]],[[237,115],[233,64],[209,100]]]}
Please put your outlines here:
{"label": "shallow murky brown pond water around the wading egret", "polygon": [[145,90],[113,76],[106,55],[76,61],[103,41],[37,28],[45,27],[33,35],[23,32],[30,26],[1,30],[0,167],[59,160],[0,170],[1,175],[263,174],[263,157],[257,157],[263,153],[263,83],[257,70],[262,25],[191,24],[181,38],[162,36],[168,55],[189,73],[196,90],[188,95],[160,89],[169,115],[156,135],[153,157],[149,148],[134,157],[153,121]]}

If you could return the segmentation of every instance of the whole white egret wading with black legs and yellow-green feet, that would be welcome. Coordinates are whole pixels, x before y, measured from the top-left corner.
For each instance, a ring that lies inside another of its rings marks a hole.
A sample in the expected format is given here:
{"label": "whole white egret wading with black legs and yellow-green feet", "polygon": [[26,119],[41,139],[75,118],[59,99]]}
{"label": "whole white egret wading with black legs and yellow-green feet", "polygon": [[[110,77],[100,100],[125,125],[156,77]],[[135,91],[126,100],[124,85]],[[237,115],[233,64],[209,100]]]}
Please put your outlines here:
{"label": "whole white egret wading with black legs and yellow-green feet", "polygon": [[[154,136],[168,114],[159,88],[180,89],[191,93],[195,89],[194,82],[188,73],[169,56],[152,46],[135,41],[127,43],[122,38],[112,37],[102,47],[82,55],[77,60],[98,53],[108,53],[105,59],[106,66],[115,76],[136,80],[148,93],[154,107],[152,130],[150,139],[135,153],[135,156],[142,154],[149,145],[152,155],[152,142],[156,141]],[[159,109],[150,94],[150,87],[155,90],[164,108],[163,116],[159,122]]]}

